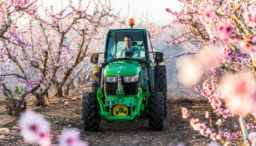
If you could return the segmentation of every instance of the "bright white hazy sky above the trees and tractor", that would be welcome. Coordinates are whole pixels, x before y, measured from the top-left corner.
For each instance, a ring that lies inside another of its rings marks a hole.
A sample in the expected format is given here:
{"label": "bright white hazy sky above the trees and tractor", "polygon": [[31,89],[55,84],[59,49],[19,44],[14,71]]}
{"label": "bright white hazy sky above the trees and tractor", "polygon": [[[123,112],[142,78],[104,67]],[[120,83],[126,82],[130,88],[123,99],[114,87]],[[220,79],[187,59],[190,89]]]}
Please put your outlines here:
{"label": "bright white hazy sky above the trees and tractor", "polygon": [[[61,0],[43,0],[44,5],[61,7]],[[64,5],[68,5],[68,0],[63,0]],[[88,0],[82,0],[82,4],[86,6]],[[73,0],[73,5],[77,0]],[[165,11],[165,8],[171,8],[172,11],[179,11],[180,3],[178,0],[110,0],[115,11],[121,10],[121,15],[127,15],[130,5],[129,18],[147,14],[151,22],[158,22],[165,25],[170,22],[171,15]],[[76,6],[76,5],[75,5]],[[136,23],[136,20],[135,20]]]}

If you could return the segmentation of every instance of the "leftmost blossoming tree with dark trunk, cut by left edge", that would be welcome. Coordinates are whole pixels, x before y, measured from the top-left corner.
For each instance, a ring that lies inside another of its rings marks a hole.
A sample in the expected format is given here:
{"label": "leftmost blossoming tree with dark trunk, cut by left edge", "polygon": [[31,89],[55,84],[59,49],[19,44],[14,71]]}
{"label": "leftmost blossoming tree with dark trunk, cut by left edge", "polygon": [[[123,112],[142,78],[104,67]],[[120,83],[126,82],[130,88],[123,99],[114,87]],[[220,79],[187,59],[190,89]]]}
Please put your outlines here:
{"label": "leftmost blossoming tree with dark trunk, cut by left edge", "polygon": [[[40,62],[28,61],[28,56],[23,53],[30,47],[18,34],[18,22],[25,15],[34,15],[38,6],[36,1],[1,1],[1,94],[5,95],[11,104],[12,114],[19,115],[20,106],[29,93],[35,92],[40,84],[44,83],[48,52],[40,56]],[[33,68],[39,68],[40,71]],[[34,74],[34,75],[33,75]],[[16,79],[16,86],[9,84]],[[20,85],[18,87],[18,84]]]}

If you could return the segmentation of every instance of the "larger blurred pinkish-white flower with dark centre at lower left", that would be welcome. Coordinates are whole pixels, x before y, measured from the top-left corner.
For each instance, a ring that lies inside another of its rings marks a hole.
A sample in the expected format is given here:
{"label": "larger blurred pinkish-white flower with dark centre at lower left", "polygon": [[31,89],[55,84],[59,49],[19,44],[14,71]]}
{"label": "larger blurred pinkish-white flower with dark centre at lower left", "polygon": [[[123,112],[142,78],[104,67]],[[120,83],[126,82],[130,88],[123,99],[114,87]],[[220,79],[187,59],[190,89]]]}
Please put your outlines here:
{"label": "larger blurred pinkish-white flower with dark centre at lower left", "polygon": [[48,121],[34,111],[26,111],[20,117],[20,128],[24,140],[40,145],[51,145]]}

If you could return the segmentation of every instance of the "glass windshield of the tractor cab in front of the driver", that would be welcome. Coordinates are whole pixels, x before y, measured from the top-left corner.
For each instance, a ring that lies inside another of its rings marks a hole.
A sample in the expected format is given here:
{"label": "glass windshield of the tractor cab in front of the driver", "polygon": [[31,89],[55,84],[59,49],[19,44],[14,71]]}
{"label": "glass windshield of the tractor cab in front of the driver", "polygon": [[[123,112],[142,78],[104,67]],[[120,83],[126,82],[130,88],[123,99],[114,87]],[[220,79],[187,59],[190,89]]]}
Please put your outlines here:
{"label": "glass windshield of the tractor cab in front of the driver", "polygon": [[[129,49],[126,47],[127,43],[125,44],[125,37],[127,36],[128,40],[131,40]],[[108,40],[107,61],[116,58],[146,60],[143,38],[143,30],[112,31]]]}

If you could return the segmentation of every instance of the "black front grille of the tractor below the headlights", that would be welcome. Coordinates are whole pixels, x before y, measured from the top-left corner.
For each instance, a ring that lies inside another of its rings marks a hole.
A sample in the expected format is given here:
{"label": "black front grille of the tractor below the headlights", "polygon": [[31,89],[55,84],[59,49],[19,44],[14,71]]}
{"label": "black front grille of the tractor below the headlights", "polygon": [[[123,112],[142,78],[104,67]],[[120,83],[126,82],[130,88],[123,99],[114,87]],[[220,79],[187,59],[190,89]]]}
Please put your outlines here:
{"label": "black front grille of the tractor below the headlights", "polygon": [[[141,86],[141,74],[139,74],[139,79],[135,83],[125,83],[123,77],[121,76],[121,83],[123,85],[124,95],[138,95],[139,87]],[[118,83],[104,83],[105,95],[117,95]]]}

